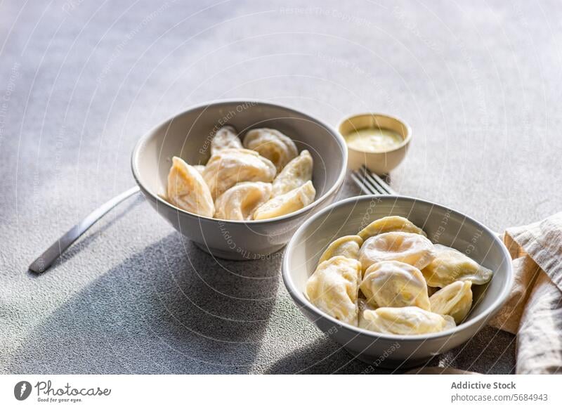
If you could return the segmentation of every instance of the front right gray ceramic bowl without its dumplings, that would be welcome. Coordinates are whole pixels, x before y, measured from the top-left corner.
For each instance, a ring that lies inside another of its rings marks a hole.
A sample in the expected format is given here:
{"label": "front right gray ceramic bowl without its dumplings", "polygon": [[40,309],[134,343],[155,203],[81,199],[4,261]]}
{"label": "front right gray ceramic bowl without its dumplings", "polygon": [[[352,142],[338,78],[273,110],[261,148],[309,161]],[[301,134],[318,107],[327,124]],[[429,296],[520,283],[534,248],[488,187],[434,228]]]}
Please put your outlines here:
{"label": "front right gray ceramic bowl without its dumplings", "polygon": [[[329,242],[356,234],[384,216],[404,216],[423,228],[432,242],[454,247],[494,271],[488,285],[473,286],[473,308],[463,323],[431,335],[379,334],[341,323],[306,299],[306,280]],[[490,229],[455,210],[404,196],[351,197],[326,207],[296,231],[282,269],[289,294],[322,332],[353,356],[386,368],[417,365],[466,342],[502,307],[514,280],[509,253]]]}

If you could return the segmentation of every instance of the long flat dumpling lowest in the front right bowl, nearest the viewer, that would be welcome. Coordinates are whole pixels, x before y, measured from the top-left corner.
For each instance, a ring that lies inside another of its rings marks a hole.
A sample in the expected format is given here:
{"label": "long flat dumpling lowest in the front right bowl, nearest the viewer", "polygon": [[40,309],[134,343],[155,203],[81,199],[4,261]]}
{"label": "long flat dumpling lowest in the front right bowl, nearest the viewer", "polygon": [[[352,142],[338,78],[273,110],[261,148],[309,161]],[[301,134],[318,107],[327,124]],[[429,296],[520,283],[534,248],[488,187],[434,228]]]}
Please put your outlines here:
{"label": "long flat dumpling lowest in the front right bowl, nearest the viewer", "polygon": [[452,317],[440,316],[416,306],[365,311],[362,323],[367,330],[396,335],[430,334],[455,327]]}

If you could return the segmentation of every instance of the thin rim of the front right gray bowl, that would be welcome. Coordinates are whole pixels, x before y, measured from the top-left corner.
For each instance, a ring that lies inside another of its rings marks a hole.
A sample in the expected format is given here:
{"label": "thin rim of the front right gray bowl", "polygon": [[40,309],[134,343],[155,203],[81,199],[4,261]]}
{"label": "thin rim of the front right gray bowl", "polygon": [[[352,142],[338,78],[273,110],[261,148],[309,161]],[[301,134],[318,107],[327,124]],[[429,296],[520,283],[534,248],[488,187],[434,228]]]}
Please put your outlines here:
{"label": "thin rim of the front right gray bowl", "polygon": [[[445,209],[449,212],[455,212],[455,213],[459,214],[460,216],[465,217],[466,219],[468,219],[472,223],[476,223],[476,225],[479,228],[482,228],[483,231],[488,233],[488,235],[492,236],[492,240],[494,240],[497,244],[500,245],[500,248],[502,249],[502,252],[504,254],[504,262],[507,263],[507,273],[508,273],[507,283],[502,288],[502,293],[499,294],[499,297],[497,297],[497,299],[495,299],[495,301],[493,301],[492,304],[490,306],[488,306],[487,309],[485,309],[485,311],[479,313],[478,316],[475,316],[475,317],[471,318],[470,320],[468,320],[468,321],[466,321],[466,322],[464,322],[460,325],[457,325],[454,328],[451,328],[450,330],[445,330],[445,331],[441,331],[441,332],[433,332],[431,334],[424,334],[424,335],[393,335],[393,334],[384,334],[382,332],[365,330],[365,329],[360,328],[360,327],[355,327],[355,325],[351,325],[351,324],[348,324],[348,323],[344,323],[343,321],[336,320],[336,318],[333,318],[332,316],[329,316],[324,311],[318,309],[318,307],[316,307],[314,304],[312,304],[311,301],[308,301],[308,299],[306,299],[303,292],[299,291],[299,289],[296,288],[296,285],[294,285],[292,277],[289,274],[289,258],[290,258],[291,254],[293,252],[294,246],[296,245],[296,238],[298,238],[300,235],[302,235],[303,231],[305,231],[306,228],[308,228],[308,226],[310,226],[311,223],[313,223],[313,221],[315,221],[316,219],[322,217],[323,215],[331,212],[332,209],[334,209],[336,207],[344,206],[344,204],[347,204],[348,202],[356,202],[356,201],[360,201],[360,200],[361,201],[362,200],[372,200],[374,197],[377,197],[377,198],[382,197],[382,198],[394,199],[394,200],[404,200],[405,199],[405,200],[409,200],[409,201],[413,201],[413,202],[422,202],[422,203],[430,204],[432,207],[440,207],[441,209]],[[466,214],[464,214],[462,212],[459,212],[455,209],[451,209],[450,207],[443,206],[442,204],[438,204],[436,202],[430,202],[429,200],[421,200],[421,199],[418,199],[416,197],[403,196],[403,195],[360,195],[360,196],[348,197],[347,199],[340,200],[339,202],[335,202],[333,204],[330,204],[329,206],[322,209],[320,212],[318,212],[318,213],[314,214],[313,216],[309,217],[308,219],[306,219],[306,221],[304,221],[304,223],[296,230],[296,232],[292,236],[291,240],[289,240],[289,242],[287,243],[287,248],[285,250],[285,255],[283,257],[283,262],[282,262],[282,278],[283,278],[283,283],[285,283],[285,287],[287,287],[287,291],[289,292],[289,294],[291,294],[291,297],[294,300],[298,301],[304,308],[308,309],[308,311],[311,311],[312,313],[315,313],[315,314],[317,314],[317,315],[319,315],[323,318],[326,318],[327,320],[331,321],[334,325],[339,325],[341,327],[345,327],[346,329],[351,330],[353,332],[358,332],[358,334],[366,335],[366,336],[369,336],[369,337],[391,339],[391,340],[395,340],[395,341],[396,340],[398,340],[398,341],[426,341],[426,340],[430,340],[430,339],[440,339],[440,338],[444,338],[444,337],[450,337],[451,335],[455,335],[457,332],[461,332],[462,330],[465,330],[465,329],[471,327],[472,325],[481,322],[482,320],[486,320],[487,318],[491,318],[495,313],[497,313],[497,311],[499,311],[500,308],[502,308],[504,303],[507,301],[507,297],[509,296],[509,292],[511,290],[511,287],[513,287],[513,283],[514,283],[513,266],[511,265],[511,257],[509,256],[509,252],[508,252],[507,248],[505,247],[504,243],[502,242],[502,240],[499,240],[499,238],[497,237],[497,234],[494,233],[492,230],[490,230],[490,228],[488,228],[487,226],[484,226],[482,223],[480,223],[479,221],[476,221],[475,219],[471,218],[470,216],[466,216]]]}

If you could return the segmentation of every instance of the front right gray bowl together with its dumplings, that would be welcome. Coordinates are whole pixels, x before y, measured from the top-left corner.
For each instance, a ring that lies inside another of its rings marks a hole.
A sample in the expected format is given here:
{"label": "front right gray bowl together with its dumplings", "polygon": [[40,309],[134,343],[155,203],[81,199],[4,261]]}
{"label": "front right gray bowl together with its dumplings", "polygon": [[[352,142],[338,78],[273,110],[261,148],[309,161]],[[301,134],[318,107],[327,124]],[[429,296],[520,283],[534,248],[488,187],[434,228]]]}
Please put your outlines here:
{"label": "front right gray bowl together with its dumplings", "polygon": [[509,253],[460,212],[403,196],[360,196],[308,219],[287,245],[299,309],[356,358],[407,368],[469,340],[507,300]]}

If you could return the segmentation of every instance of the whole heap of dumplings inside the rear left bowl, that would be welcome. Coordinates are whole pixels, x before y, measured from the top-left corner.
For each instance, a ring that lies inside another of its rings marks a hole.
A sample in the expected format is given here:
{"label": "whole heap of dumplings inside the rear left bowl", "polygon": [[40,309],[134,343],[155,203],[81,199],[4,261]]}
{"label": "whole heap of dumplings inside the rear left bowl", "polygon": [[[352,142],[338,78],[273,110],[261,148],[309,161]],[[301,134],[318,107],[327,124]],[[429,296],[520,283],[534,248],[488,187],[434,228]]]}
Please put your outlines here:
{"label": "whole heap of dumplings inside the rear left bowl", "polygon": [[222,126],[210,150],[206,164],[174,157],[162,197],[187,212],[235,221],[284,216],[315,200],[310,152],[299,154],[276,129],[251,129],[242,144],[233,126]]}

